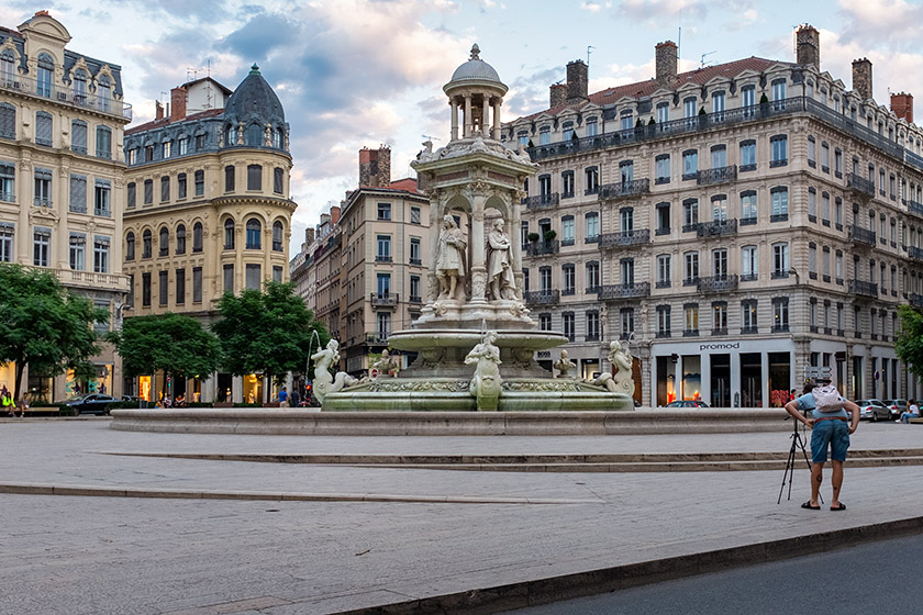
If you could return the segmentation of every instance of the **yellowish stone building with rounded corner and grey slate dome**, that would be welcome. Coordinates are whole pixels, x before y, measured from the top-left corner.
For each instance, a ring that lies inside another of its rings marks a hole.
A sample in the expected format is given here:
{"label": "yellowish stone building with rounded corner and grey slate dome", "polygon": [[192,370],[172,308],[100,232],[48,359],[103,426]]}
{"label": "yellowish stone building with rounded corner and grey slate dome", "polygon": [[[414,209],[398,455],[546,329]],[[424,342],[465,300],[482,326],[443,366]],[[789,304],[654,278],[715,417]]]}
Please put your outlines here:
{"label": "yellowish stone building with rounded corner and grey slate dome", "polygon": [[[211,78],[170,92],[154,121],[125,133],[125,316],[184,313],[210,324],[224,293],[288,281],[292,166],[289,125],[253,66],[233,92]],[[130,384],[147,395],[156,378]],[[262,399],[260,374],[171,383],[170,394]]]}

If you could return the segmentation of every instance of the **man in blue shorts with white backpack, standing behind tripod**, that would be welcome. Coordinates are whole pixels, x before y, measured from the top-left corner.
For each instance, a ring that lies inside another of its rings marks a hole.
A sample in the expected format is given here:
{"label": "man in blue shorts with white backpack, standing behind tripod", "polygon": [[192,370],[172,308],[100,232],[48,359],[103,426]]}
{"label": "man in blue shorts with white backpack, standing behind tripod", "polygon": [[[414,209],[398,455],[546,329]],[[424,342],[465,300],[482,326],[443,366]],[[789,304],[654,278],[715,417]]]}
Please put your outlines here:
{"label": "man in blue shorts with white backpack, standing behind tripod", "polygon": [[[850,401],[838,398],[839,403],[836,405],[839,407],[833,411],[829,407],[823,407],[823,411],[816,407],[814,392],[821,391],[830,383],[829,377],[819,377],[816,380],[809,381],[804,387],[804,394],[786,404],[786,411],[793,418],[811,428],[811,500],[801,505],[802,508],[811,511],[821,510],[818,496],[823,481],[827,447],[831,449],[830,457],[833,462],[831,477],[833,501],[830,503],[830,510],[846,510],[846,505],[839,501],[839,489],[843,487],[843,462],[846,461],[846,450],[849,448],[849,435],[854,434],[856,427],[859,426],[859,406]],[[804,414],[799,411],[804,411]],[[805,416],[809,412],[810,415]],[[847,415],[847,412],[852,413],[852,417]]]}

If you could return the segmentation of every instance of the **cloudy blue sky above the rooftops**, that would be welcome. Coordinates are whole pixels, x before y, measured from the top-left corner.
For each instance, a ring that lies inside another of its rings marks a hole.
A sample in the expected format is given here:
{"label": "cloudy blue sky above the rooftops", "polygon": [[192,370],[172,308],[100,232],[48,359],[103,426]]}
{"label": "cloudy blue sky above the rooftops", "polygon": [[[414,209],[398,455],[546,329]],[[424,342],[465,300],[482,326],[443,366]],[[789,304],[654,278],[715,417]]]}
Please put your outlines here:
{"label": "cloudy blue sky above the rooftops", "polygon": [[847,89],[852,60],[867,57],[876,101],[923,100],[923,0],[4,0],[0,25],[43,9],[70,32],[68,48],[122,67],[133,125],[187,80],[211,74],[234,89],[258,64],[291,128],[291,256],[356,188],[358,149],[390,146],[400,179],[413,176],[424,135],[445,144],[442,86],[474,43],[510,87],[504,121],[546,109],[575,59],[589,57],[591,92],[653,78],[654,46],[667,40],[681,71],[793,62],[801,23],[821,31],[821,69]]}

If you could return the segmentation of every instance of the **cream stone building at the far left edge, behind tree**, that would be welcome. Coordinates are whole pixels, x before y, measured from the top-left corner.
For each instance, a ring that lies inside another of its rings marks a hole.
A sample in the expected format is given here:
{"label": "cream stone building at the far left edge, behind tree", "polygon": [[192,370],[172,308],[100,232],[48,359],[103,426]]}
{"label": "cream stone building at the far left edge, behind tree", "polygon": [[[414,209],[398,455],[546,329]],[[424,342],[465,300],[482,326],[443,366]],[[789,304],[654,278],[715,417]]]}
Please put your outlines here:
{"label": "cream stone building at the far left edge, behind tree", "polygon": [[[0,261],[54,273],[120,326],[125,203],[122,137],[132,108],[121,68],[67,48],[70,34],[46,11],[0,27]],[[120,395],[121,359],[109,344],[90,359],[96,378],[23,376],[34,400],[85,392]],[[0,366],[13,390],[14,366]]]}

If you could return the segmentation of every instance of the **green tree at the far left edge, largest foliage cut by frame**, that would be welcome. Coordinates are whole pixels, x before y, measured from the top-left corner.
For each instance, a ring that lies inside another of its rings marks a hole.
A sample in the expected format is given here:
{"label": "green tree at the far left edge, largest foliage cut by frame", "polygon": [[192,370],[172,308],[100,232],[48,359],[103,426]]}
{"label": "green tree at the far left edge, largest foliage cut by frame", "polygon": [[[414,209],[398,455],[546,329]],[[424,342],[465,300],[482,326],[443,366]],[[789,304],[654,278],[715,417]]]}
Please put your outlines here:
{"label": "green tree at the far left edge, largest foliage cut by frame", "polygon": [[15,362],[14,396],[26,365],[52,377],[99,353],[93,323],[105,322],[107,310],[63,288],[54,275],[0,265],[0,364]]}

